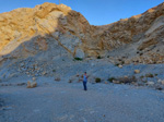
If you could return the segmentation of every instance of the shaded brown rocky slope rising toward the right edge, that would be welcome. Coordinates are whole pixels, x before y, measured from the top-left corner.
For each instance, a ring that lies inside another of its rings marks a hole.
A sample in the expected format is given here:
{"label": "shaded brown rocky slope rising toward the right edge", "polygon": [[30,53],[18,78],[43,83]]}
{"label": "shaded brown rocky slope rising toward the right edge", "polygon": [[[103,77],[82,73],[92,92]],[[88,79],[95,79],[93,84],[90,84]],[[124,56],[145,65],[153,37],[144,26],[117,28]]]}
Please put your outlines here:
{"label": "shaded brown rocky slope rising toward the right edge", "polygon": [[97,38],[101,50],[109,50],[109,56],[116,56],[119,59],[129,59],[127,63],[162,63],[164,60],[164,3],[140,15],[105,26],[95,26],[93,34]]}

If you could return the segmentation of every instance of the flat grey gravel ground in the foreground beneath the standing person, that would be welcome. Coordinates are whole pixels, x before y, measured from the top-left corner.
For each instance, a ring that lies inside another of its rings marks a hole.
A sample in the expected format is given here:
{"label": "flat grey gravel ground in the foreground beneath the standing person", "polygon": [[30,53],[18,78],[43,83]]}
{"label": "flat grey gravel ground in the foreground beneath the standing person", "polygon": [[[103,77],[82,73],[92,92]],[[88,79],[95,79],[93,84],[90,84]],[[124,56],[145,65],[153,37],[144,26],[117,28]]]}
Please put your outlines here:
{"label": "flat grey gravel ground in the foreground beneath the standing person", "polygon": [[0,122],[164,122],[164,93],[115,84],[54,82],[0,86]]}

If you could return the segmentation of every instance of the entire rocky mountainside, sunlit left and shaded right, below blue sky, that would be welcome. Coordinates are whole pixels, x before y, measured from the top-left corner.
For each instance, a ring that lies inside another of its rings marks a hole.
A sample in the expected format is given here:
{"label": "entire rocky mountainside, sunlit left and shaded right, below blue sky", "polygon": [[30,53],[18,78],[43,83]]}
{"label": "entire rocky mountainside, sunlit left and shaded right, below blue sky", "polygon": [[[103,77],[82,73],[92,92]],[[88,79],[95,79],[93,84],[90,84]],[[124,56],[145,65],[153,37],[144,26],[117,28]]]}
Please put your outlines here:
{"label": "entire rocky mountainside, sunlit left and shaded right, below blue sky", "polygon": [[[28,57],[110,56],[125,63],[163,63],[164,3],[116,23],[93,26],[65,4],[0,14],[0,61]],[[44,58],[38,58],[44,59]]]}

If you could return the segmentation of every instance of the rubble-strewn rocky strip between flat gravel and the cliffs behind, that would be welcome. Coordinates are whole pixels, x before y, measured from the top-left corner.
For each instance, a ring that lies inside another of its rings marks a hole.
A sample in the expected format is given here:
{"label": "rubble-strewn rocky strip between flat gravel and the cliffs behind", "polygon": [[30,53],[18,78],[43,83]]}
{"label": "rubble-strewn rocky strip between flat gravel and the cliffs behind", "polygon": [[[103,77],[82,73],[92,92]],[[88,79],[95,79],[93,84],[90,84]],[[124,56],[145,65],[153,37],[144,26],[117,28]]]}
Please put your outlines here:
{"label": "rubble-strewn rocky strip between flat gravel and the cliffs behind", "polygon": [[[8,61],[7,61],[8,63]],[[60,65],[60,66],[59,66]],[[40,76],[55,81],[81,82],[87,72],[90,83],[131,84],[134,86],[164,89],[164,64],[114,64],[110,59],[56,59],[48,62],[23,60],[0,69],[2,86],[10,86],[13,78],[35,81]]]}

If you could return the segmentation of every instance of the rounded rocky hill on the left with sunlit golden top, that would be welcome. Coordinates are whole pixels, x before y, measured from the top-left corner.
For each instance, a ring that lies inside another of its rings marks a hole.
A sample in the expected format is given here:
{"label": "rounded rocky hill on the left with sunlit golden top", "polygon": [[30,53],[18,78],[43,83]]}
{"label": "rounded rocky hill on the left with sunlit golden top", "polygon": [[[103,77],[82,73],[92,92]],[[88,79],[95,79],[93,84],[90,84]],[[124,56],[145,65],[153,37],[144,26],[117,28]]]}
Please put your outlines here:
{"label": "rounded rocky hill on the left with sunlit golden top", "polygon": [[47,50],[48,38],[74,56],[77,48],[83,48],[82,44],[90,39],[87,21],[63,4],[44,3],[34,9],[2,13],[0,26],[1,60],[9,54],[10,58],[26,58]]}

